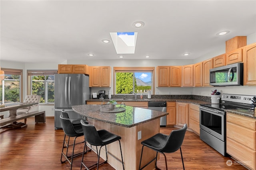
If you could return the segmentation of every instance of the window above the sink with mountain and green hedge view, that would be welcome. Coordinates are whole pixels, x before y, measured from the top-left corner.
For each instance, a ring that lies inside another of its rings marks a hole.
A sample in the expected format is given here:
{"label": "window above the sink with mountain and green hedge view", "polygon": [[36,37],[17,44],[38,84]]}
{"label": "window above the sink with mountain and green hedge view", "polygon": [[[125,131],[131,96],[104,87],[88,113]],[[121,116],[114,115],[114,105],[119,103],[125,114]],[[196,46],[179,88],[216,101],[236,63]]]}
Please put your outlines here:
{"label": "window above the sink with mountain and green hedge view", "polygon": [[114,74],[114,94],[146,94],[154,89],[154,67],[114,67]]}

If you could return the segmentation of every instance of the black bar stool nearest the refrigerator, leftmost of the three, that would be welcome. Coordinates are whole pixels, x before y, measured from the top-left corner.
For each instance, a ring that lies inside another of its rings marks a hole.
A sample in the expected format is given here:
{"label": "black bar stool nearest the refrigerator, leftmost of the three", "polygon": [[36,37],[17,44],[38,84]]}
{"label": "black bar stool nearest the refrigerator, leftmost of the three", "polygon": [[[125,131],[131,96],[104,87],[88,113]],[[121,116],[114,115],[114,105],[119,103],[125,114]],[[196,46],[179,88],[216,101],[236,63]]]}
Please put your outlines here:
{"label": "black bar stool nearest the refrigerator, leftmost of the three", "polygon": [[[62,124],[62,129],[65,133],[64,135],[64,140],[63,140],[63,145],[62,145],[62,152],[61,152],[61,157],[60,157],[60,161],[61,163],[64,163],[66,161],[68,161],[70,163],[70,170],[72,170],[72,163],[73,163],[73,159],[76,158],[77,156],[80,156],[81,154],[84,154],[84,152],[87,152],[87,147],[86,147],[86,151],[74,154],[74,148],[75,145],[78,144],[76,143],[76,138],[83,136],[83,130],[82,130],[82,125],[80,123],[80,125],[74,125],[71,123],[70,119],[63,117],[63,115],[60,115],[60,121]],[[88,123],[87,121],[85,121],[85,123]],[[66,143],[66,136],[68,136],[68,143]],[[69,145],[69,141],[70,141],[70,137],[74,137],[74,143],[73,145],[73,150],[72,150],[72,154],[71,156],[68,156],[68,147],[72,146]],[[85,141],[83,141],[85,143]],[[80,143],[83,143],[80,142]],[[63,152],[64,148],[66,148],[66,153]],[[85,150],[85,149],[84,149]],[[64,156],[66,158],[66,160],[62,161],[62,156]],[[70,162],[71,160],[71,162]]]}

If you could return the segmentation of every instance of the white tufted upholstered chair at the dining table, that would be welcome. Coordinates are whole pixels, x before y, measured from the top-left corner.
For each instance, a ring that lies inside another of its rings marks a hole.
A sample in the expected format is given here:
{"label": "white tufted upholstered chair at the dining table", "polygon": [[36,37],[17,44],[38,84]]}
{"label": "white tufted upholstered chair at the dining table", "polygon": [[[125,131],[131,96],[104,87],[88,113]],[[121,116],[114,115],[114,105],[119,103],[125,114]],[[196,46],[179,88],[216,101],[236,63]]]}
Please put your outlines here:
{"label": "white tufted upholstered chair at the dining table", "polygon": [[[25,114],[25,113],[29,113],[29,112],[33,112],[33,111],[38,111],[40,98],[41,98],[40,95],[27,95],[24,100],[24,103],[38,103],[38,104],[35,104],[30,107],[24,107],[21,109],[17,109],[17,115],[21,115],[21,114]],[[24,123],[25,124],[27,123],[26,118],[24,119]]]}

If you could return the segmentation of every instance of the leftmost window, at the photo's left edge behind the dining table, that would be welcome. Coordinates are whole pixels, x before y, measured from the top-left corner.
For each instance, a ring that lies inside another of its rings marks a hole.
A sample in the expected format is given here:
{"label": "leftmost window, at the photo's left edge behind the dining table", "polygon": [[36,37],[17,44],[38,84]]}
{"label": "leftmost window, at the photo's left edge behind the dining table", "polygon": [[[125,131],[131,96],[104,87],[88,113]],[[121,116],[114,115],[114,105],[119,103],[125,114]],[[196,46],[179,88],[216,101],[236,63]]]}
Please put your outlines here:
{"label": "leftmost window, at the photo's left edge behind the dining table", "polygon": [[0,102],[20,102],[22,98],[22,70],[1,68],[4,80],[0,80]]}

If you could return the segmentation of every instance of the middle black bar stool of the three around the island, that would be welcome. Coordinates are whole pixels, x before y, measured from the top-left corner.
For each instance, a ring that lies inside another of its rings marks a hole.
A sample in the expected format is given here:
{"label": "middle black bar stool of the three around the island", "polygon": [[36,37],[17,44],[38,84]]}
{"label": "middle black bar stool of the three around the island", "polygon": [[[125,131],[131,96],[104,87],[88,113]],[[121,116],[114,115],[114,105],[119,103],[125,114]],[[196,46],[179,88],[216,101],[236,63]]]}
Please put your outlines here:
{"label": "middle black bar stool of the three around the island", "polygon": [[[82,166],[84,166],[87,170],[89,170],[89,168],[97,165],[97,170],[98,170],[100,164],[104,164],[107,162],[107,160],[108,160],[107,154],[109,154],[110,156],[112,156],[113,158],[118,160],[120,163],[122,163],[123,169],[124,169],[124,161],[123,161],[123,155],[122,155],[122,149],[121,149],[121,143],[120,143],[121,137],[118,135],[115,135],[113,133],[110,133],[104,129],[97,131],[93,125],[86,124],[83,122],[83,120],[81,120],[81,124],[82,124],[83,132],[84,132],[85,141],[88,142],[90,145],[96,146],[98,161],[95,164],[93,164],[92,166],[87,167],[83,162],[83,160],[84,160],[84,154],[83,154],[80,169],[82,170]],[[119,141],[122,161],[120,161],[118,158],[116,158],[116,156],[114,156],[107,150],[106,145],[113,143],[115,141]],[[98,152],[98,146],[100,146],[100,149],[105,146],[105,149],[106,149],[106,160],[102,163],[100,163],[100,150]],[[84,150],[85,150],[85,147],[86,147],[86,143],[84,143]]]}

